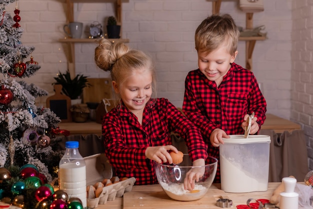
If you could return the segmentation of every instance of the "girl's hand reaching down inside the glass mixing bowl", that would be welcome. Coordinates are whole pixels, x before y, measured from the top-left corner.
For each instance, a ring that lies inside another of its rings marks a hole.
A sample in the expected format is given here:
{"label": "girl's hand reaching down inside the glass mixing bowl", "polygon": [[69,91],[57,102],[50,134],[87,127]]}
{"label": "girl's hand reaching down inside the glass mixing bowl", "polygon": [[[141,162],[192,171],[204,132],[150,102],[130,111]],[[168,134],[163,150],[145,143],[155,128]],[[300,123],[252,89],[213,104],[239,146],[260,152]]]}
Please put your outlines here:
{"label": "girl's hand reaching down inside the glass mixing bowl", "polygon": [[196,159],[192,162],[193,166],[201,166],[201,167],[192,167],[187,173],[186,177],[183,180],[183,188],[186,190],[194,189],[194,182],[198,181],[200,177],[204,175],[205,171],[205,160],[204,159]]}

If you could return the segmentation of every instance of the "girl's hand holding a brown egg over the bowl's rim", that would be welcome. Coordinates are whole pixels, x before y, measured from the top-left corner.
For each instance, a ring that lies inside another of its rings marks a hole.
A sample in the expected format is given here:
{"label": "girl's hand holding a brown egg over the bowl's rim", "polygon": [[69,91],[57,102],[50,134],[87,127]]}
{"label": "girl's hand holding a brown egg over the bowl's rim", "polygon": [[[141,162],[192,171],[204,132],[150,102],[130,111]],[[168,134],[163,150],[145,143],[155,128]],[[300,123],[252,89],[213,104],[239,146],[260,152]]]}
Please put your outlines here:
{"label": "girl's hand holding a brown egg over the bowl's rim", "polygon": [[172,150],[178,153],[178,150],[173,145],[165,146],[148,146],[145,149],[145,157],[156,161],[157,163],[167,162],[173,163],[173,160],[167,150]]}

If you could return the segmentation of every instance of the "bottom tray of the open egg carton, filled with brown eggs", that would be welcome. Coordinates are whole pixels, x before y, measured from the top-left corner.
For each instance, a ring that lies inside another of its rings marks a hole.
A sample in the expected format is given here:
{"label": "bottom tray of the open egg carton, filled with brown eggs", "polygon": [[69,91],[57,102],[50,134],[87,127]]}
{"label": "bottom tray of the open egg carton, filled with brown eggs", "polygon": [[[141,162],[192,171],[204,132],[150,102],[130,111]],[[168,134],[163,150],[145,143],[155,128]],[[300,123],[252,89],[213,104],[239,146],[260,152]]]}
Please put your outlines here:
{"label": "bottom tray of the open egg carton, filled with brown eggs", "polygon": [[135,181],[136,179],[131,177],[102,187],[99,197],[87,198],[87,207],[96,208],[98,204],[105,204],[107,201],[115,200],[116,197],[122,197],[125,192],[131,191]]}

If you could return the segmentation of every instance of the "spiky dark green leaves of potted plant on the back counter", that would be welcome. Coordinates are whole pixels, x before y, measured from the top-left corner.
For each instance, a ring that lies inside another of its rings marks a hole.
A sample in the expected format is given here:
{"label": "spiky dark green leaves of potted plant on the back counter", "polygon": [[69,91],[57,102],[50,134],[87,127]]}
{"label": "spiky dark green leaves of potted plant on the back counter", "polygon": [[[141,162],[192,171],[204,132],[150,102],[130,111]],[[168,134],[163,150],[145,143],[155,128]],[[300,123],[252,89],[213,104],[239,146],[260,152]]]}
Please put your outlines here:
{"label": "spiky dark green leaves of potted plant on the back counter", "polygon": [[[77,74],[73,79],[70,77],[70,73],[67,70],[65,73],[58,72],[57,76],[54,77],[56,82],[52,84],[61,84],[62,93],[70,97],[70,99],[81,99],[83,88],[90,86],[87,80],[87,76]],[[80,100],[81,103],[81,100]]]}

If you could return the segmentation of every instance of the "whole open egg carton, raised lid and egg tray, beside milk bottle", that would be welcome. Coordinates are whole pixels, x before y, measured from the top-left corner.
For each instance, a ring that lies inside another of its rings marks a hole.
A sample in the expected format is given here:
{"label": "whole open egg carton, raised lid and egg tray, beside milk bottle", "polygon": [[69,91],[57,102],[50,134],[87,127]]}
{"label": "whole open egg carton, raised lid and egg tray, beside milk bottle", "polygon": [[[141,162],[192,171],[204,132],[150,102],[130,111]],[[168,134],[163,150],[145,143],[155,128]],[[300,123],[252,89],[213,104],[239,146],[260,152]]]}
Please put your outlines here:
{"label": "whole open egg carton, raised lid and egg tray, beside milk bottle", "polygon": [[[113,175],[112,167],[104,153],[93,154],[84,157],[86,164],[86,183],[93,185],[101,182],[104,178],[110,179]],[[118,181],[111,185],[104,186],[97,198],[87,198],[87,207],[96,208],[98,204],[105,204],[107,201],[121,197],[125,192],[131,191],[136,179],[134,177]]]}

